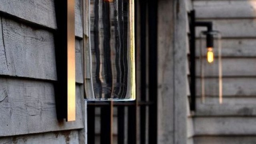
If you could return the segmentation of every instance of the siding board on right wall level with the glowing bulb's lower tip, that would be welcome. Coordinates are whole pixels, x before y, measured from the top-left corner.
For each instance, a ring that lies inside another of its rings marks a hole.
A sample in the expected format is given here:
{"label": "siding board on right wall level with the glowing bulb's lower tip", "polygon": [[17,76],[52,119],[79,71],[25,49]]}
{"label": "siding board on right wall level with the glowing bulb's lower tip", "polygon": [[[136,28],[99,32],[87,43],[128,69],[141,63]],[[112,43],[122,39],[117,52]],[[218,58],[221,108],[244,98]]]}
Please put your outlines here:
{"label": "siding board on right wall level with the glowing bulb's lower tip", "polygon": [[[203,59],[206,61],[206,58]],[[196,75],[200,76],[200,60],[196,60]],[[256,58],[222,58],[222,76],[236,77],[256,77]],[[212,67],[218,68],[218,58],[211,64]],[[218,69],[212,71],[209,68],[204,69],[205,75],[218,76]]]}

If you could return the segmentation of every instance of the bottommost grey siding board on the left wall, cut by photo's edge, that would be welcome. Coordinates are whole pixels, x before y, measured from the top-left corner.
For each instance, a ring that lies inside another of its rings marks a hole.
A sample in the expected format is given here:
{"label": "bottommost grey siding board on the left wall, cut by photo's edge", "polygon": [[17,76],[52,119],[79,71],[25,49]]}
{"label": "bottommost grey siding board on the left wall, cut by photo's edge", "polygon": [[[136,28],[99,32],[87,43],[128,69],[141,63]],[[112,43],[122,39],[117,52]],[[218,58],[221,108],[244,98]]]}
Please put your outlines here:
{"label": "bottommost grey siding board on the left wall, cut by photo's edge", "polygon": [[78,130],[0,138],[0,144],[80,144]]}

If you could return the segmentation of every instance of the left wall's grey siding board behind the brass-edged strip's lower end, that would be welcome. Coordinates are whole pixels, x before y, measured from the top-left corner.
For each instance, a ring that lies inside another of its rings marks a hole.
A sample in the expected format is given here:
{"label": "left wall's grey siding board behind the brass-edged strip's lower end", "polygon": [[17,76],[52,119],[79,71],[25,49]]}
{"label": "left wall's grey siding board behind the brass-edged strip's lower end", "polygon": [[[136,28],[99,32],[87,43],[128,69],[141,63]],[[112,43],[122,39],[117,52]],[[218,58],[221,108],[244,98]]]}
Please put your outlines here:
{"label": "left wall's grey siding board behind the brass-edged strip's lower end", "polygon": [[83,128],[80,89],[76,86],[76,121],[58,121],[50,82],[0,78],[0,137]]}

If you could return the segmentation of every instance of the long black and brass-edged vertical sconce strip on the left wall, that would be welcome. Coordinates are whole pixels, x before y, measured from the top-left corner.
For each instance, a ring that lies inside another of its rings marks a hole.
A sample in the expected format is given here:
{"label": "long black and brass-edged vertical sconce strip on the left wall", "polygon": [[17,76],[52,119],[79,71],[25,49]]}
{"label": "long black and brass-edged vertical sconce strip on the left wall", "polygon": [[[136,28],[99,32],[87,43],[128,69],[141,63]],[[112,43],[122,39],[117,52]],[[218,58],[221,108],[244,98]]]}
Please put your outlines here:
{"label": "long black and brass-edged vertical sconce strip on the left wall", "polygon": [[76,120],[75,0],[55,0],[57,30],[54,32],[56,110],[58,119]]}

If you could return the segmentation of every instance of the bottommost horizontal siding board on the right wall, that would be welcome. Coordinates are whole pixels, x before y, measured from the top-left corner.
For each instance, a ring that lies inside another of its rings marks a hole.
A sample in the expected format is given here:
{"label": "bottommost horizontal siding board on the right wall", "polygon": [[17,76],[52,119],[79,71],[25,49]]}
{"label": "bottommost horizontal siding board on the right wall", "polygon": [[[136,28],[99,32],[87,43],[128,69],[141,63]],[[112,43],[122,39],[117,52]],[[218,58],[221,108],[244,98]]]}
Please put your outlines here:
{"label": "bottommost horizontal siding board on the right wall", "polygon": [[200,136],[194,144],[255,144],[255,136]]}

